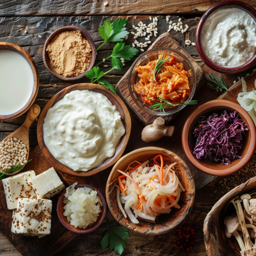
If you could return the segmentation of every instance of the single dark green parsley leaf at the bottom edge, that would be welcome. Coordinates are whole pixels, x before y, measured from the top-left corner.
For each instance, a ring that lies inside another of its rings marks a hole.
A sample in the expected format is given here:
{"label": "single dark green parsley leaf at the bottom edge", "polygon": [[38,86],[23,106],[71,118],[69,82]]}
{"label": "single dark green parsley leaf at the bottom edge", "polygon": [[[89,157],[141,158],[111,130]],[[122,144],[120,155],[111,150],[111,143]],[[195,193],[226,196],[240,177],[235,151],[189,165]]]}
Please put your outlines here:
{"label": "single dark green parsley leaf at the bottom edge", "polygon": [[108,229],[106,234],[101,240],[102,249],[110,248],[112,251],[114,249],[115,253],[122,254],[123,248],[125,247],[125,239],[129,238],[127,229],[125,227],[110,227],[108,222]]}

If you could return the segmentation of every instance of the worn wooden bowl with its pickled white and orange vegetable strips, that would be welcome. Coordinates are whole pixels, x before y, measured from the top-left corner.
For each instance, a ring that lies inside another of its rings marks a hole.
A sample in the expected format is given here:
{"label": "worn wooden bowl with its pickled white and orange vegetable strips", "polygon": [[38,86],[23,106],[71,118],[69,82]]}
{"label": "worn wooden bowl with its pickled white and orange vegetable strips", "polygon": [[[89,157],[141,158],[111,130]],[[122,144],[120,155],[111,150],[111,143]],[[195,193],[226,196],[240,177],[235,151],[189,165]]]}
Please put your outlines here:
{"label": "worn wooden bowl with its pickled white and orange vegetable strips", "polygon": [[185,162],[158,147],[124,155],[106,186],[112,216],[144,235],[161,235],[180,225],[192,210],[194,195],[194,179]]}

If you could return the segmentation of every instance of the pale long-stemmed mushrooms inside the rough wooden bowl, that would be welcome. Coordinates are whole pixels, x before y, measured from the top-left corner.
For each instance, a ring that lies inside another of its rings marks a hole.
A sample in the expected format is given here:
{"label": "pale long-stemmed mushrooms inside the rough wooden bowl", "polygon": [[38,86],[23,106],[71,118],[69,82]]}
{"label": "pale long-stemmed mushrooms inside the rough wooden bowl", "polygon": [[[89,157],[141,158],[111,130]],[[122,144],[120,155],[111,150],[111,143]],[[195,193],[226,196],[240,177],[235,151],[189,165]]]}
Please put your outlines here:
{"label": "pale long-stemmed mushrooms inside the rough wooden bowl", "polygon": [[[230,200],[235,206],[236,215],[224,220],[225,233],[228,238],[233,235],[241,249],[242,256],[256,255],[256,198],[249,194],[236,196]],[[242,204],[244,207],[242,207]],[[241,232],[241,235],[239,232]],[[254,239],[254,243],[251,241]]]}

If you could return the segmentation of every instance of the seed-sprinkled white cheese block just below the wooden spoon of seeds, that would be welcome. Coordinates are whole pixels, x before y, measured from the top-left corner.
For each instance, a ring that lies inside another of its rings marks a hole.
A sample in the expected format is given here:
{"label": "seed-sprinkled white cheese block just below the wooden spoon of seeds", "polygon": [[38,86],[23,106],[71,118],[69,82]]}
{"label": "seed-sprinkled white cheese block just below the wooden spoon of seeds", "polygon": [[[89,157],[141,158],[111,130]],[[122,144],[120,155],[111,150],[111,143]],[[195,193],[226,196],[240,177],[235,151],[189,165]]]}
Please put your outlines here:
{"label": "seed-sprinkled white cheese block just below the wooden spoon of seeds", "polygon": [[30,180],[35,178],[34,171],[26,171],[2,180],[9,210],[17,207],[18,198],[37,198]]}

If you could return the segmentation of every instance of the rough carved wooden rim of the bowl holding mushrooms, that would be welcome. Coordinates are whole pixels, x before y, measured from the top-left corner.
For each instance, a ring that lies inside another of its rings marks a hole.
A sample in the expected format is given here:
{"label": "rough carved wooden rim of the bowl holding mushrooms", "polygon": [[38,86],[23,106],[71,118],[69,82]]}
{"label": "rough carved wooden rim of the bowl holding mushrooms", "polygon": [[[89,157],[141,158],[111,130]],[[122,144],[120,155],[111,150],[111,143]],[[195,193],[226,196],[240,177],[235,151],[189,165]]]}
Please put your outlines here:
{"label": "rough carved wooden rim of the bowl holding mushrooms", "polygon": [[[208,226],[210,225],[209,224],[209,221],[211,220],[213,214],[215,214],[215,211],[216,209],[220,208],[221,209],[223,207],[226,207],[227,204],[230,202],[230,200],[237,196],[237,195],[242,195],[242,194],[245,194],[247,193],[249,190],[254,190],[256,188],[256,177],[253,177],[251,179],[249,179],[248,181],[240,184],[239,186],[233,188],[232,190],[230,190],[227,194],[225,194],[223,197],[221,197],[218,202],[216,202],[212,209],[210,210],[210,212],[206,215],[205,219],[204,219],[204,222],[203,222],[203,232],[204,232],[204,243],[205,243],[205,247],[206,247],[206,252],[207,252],[207,255],[208,256],[216,256],[216,254],[213,254],[212,253],[212,246],[213,246],[213,238],[212,236],[210,236],[210,232],[209,232],[209,229],[208,229]],[[235,209],[234,209],[234,212],[235,212]],[[220,213],[218,213],[219,215]],[[223,226],[224,226],[224,223],[223,223]],[[222,232],[223,236],[226,237],[225,235],[225,231],[223,229],[223,232]],[[214,234],[216,237],[219,237],[216,234]],[[228,238],[230,239],[230,238]],[[236,242],[236,240],[235,240]],[[236,242],[237,243],[237,242]],[[238,244],[237,244],[238,246]],[[240,252],[240,250],[239,250]],[[233,255],[237,255],[237,254],[233,254]],[[227,255],[229,256],[229,255]]]}

